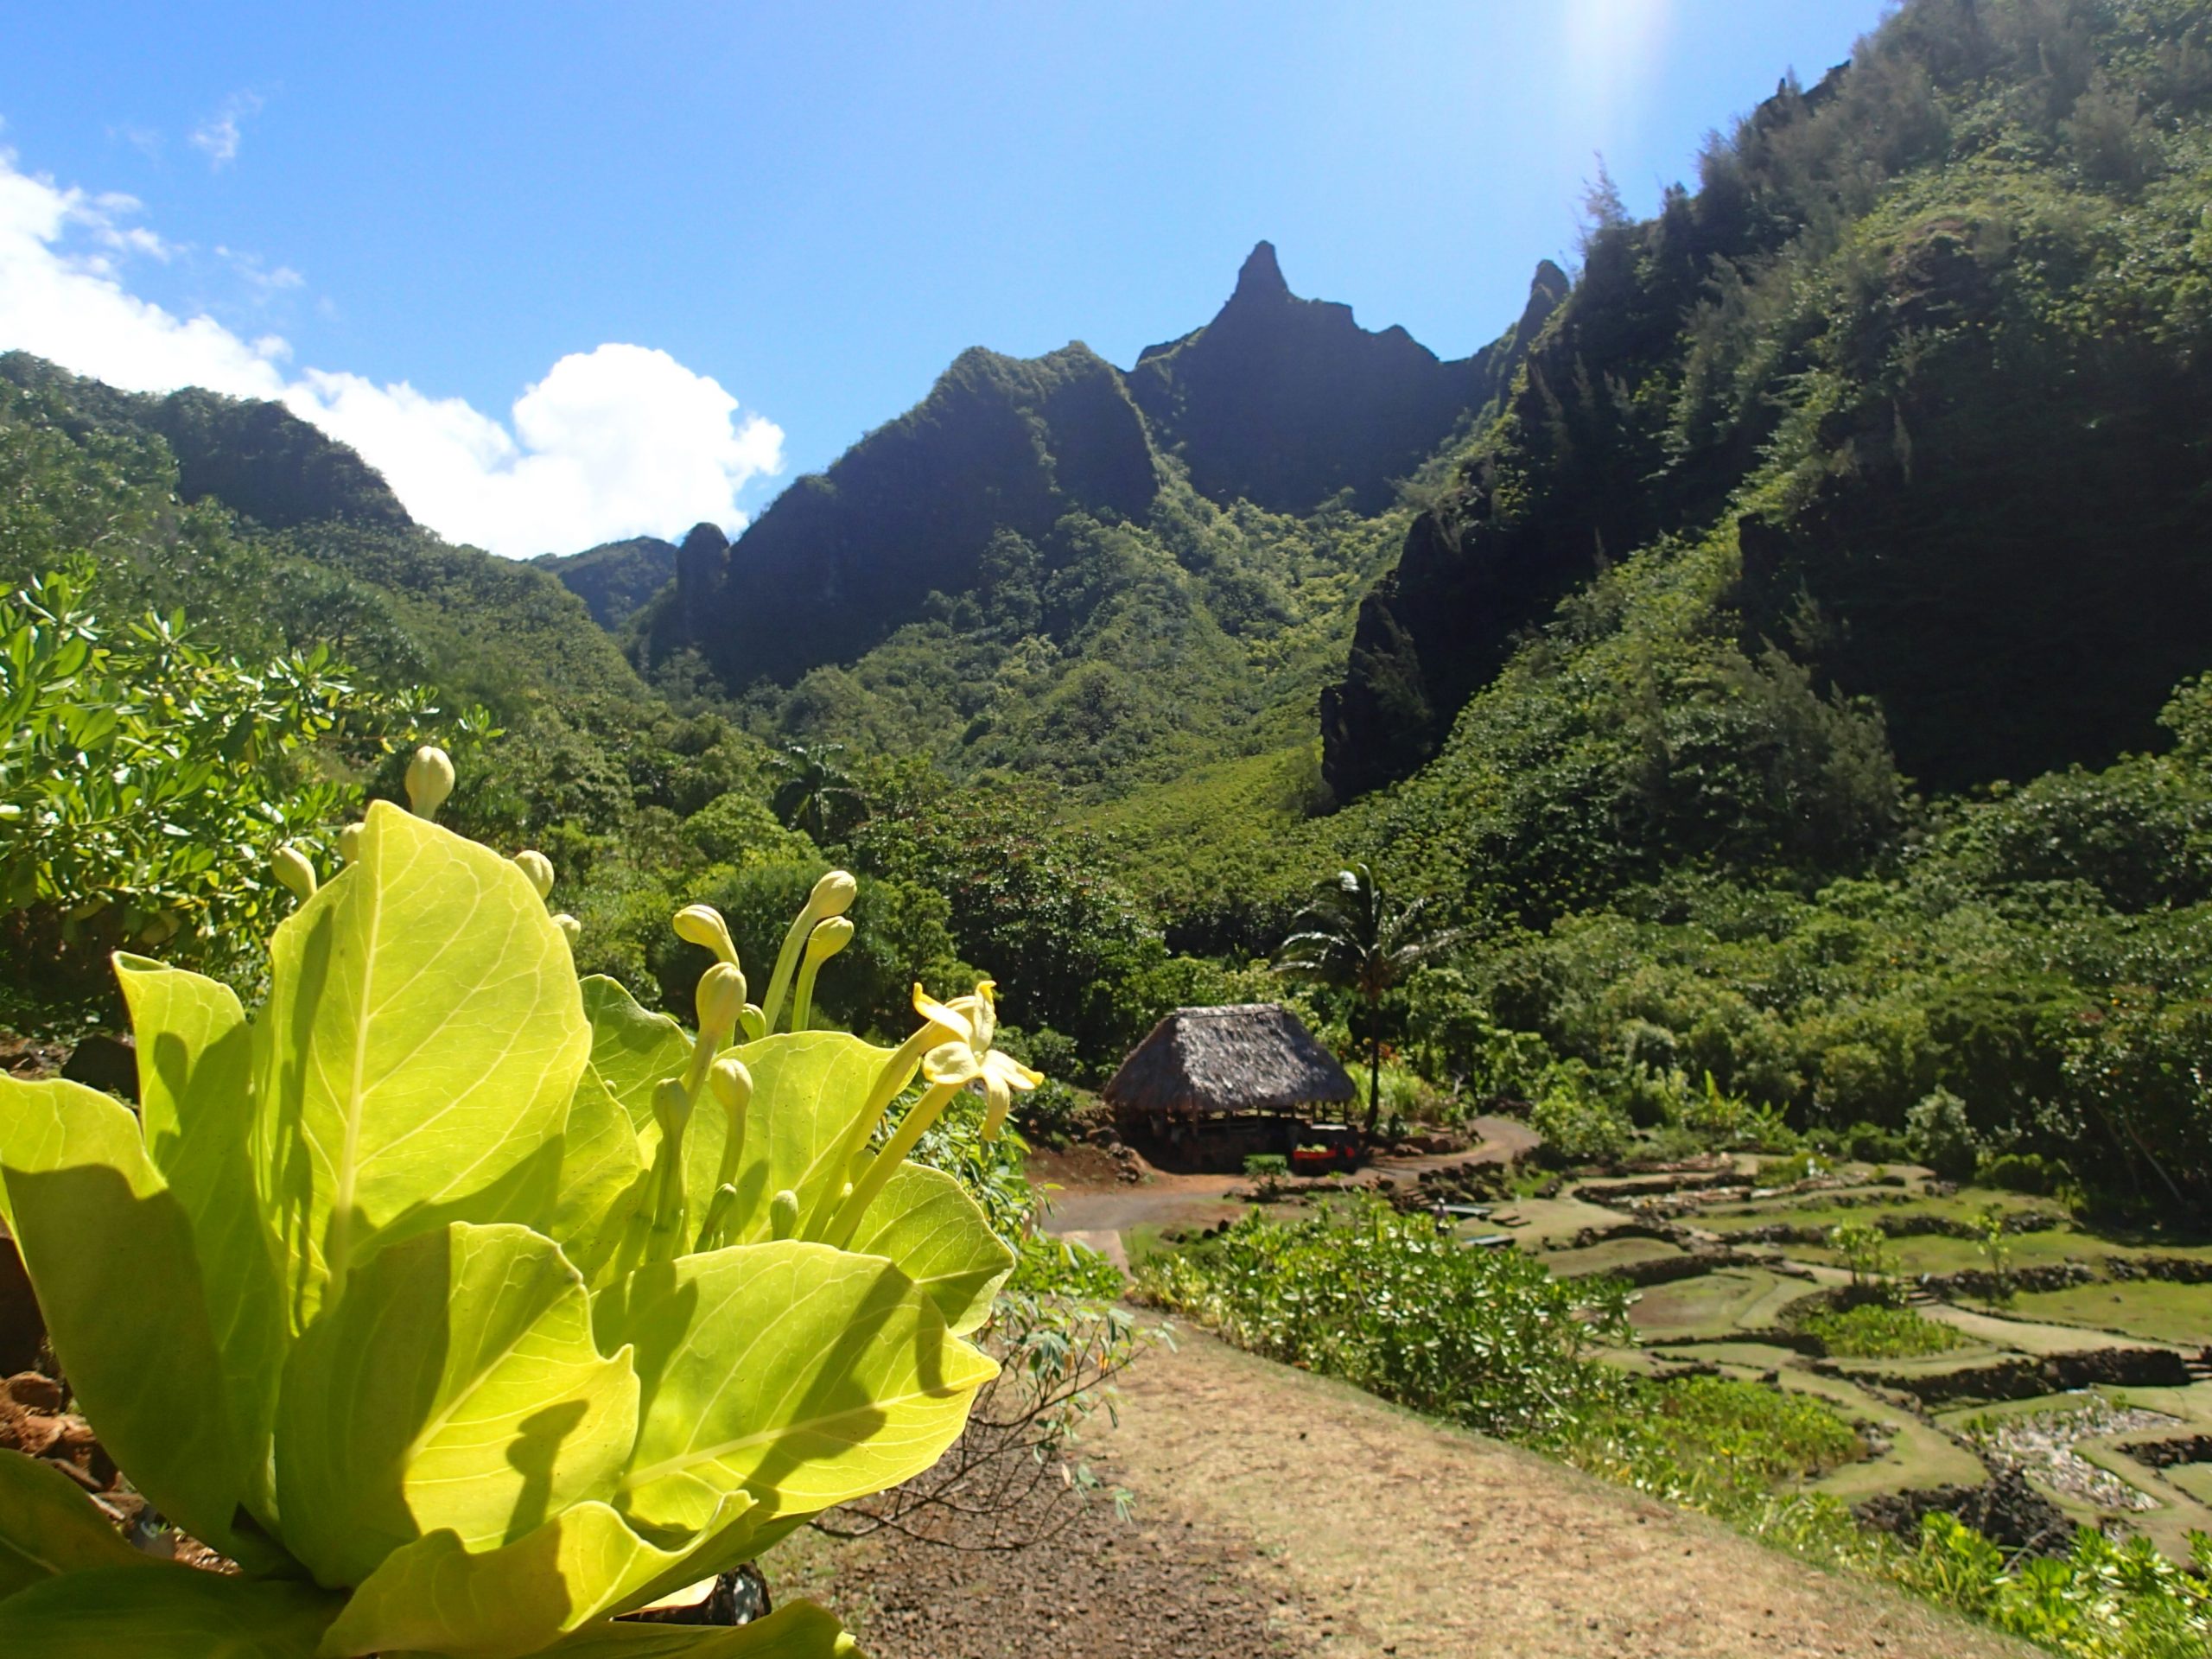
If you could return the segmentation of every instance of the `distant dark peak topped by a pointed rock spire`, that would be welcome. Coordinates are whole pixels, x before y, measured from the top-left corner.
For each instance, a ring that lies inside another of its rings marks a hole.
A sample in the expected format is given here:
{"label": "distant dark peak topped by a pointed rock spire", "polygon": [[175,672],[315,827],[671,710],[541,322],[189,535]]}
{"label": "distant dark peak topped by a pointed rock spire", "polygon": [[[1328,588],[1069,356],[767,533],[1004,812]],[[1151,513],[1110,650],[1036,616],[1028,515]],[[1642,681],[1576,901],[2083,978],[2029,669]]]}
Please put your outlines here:
{"label": "distant dark peak topped by a pointed rock spire", "polygon": [[1219,316],[1150,347],[1128,389],[1201,495],[1310,513],[1349,489],[1354,509],[1374,513],[1462,414],[1495,396],[1511,341],[1533,336],[1564,292],[1566,276],[1546,263],[1515,334],[1444,363],[1402,327],[1376,334],[1349,305],[1292,294],[1263,241]]}

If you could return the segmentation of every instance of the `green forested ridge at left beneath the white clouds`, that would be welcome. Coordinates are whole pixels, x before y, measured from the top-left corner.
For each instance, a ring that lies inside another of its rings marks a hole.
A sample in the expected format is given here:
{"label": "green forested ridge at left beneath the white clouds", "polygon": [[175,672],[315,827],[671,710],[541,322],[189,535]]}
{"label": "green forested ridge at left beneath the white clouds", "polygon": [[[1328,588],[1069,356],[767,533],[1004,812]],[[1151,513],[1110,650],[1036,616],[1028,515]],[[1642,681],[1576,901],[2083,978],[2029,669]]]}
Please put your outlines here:
{"label": "green forested ridge at left beneath the white clouds", "polygon": [[91,564],[104,615],[181,608],[201,644],[248,661],[327,646],[374,686],[482,703],[480,723],[511,734],[498,812],[513,821],[606,821],[630,796],[624,737],[666,719],[555,575],[416,526],[372,467],[283,407],[126,394],[13,352],[0,588],[71,560]]}

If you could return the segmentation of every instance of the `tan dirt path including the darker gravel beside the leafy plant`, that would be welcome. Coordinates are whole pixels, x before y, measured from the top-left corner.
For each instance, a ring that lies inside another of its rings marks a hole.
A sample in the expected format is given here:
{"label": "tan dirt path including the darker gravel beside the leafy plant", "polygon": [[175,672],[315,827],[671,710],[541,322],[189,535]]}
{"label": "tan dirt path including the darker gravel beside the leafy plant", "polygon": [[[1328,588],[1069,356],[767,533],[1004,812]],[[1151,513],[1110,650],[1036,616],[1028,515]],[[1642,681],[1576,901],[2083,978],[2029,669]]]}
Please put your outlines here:
{"label": "tan dirt path including the darker gravel beside the leafy plant", "polygon": [[1091,1453],[1133,1524],[1093,1504],[995,1557],[812,1544],[776,1577],[838,1606],[874,1659],[2033,1652],[1201,1334],[1139,1363]]}

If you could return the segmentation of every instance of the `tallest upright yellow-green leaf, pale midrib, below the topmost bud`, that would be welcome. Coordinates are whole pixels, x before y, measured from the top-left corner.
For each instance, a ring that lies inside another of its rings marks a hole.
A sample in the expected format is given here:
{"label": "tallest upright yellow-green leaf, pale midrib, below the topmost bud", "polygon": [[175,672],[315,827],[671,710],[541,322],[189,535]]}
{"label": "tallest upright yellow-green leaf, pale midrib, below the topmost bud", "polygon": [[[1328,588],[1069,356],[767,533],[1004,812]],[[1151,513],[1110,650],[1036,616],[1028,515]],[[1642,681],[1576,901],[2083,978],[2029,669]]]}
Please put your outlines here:
{"label": "tallest upright yellow-green leaf, pale midrib, below the topmost bud", "polygon": [[372,805],[356,863],[276,929],[254,1022],[292,1327],[387,1239],[544,1225],[588,1053],[568,945],[529,878]]}

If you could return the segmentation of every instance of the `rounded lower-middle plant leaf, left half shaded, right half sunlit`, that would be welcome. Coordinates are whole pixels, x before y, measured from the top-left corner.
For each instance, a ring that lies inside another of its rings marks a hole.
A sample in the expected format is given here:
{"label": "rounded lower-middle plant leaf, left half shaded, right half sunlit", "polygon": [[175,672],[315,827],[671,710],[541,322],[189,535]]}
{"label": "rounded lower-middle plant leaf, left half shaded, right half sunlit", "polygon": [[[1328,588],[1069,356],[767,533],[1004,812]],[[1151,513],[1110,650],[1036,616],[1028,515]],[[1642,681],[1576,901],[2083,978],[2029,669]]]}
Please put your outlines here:
{"label": "rounded lower-middle plant leaf, left half shaded, right half sunlit", "polygon": [[509,1544],[611,1498],[635,1433],[630,1358],[593,1345],[584,1281],[553,1241],[451,1223],[369,1256],[292,1347],[285,1542],[330,1586],[438,1528]]}

